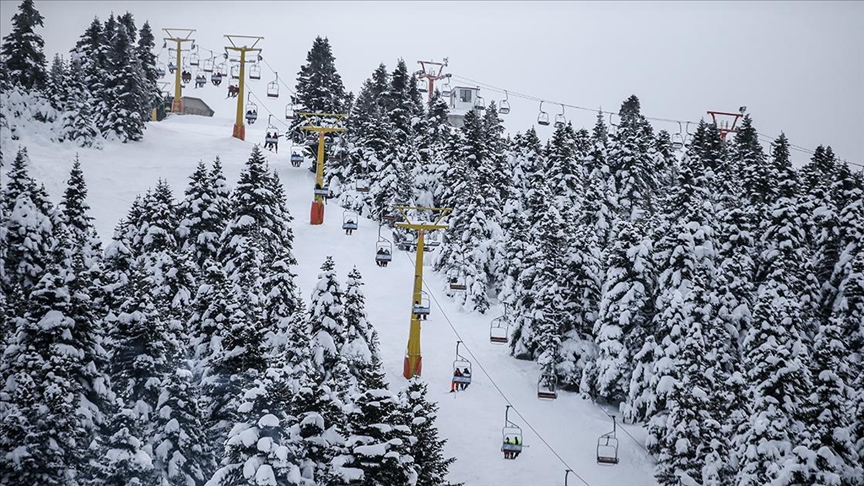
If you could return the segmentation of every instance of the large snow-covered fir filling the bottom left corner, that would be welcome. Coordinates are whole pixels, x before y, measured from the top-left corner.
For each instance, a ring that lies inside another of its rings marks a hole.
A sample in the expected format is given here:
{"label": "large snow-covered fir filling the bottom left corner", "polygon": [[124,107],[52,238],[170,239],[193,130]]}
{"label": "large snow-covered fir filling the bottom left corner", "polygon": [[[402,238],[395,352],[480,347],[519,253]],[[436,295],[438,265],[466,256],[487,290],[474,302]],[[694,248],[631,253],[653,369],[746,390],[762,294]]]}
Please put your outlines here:
{"label": "large snow-covered fir filling the bottom left corner", "polygon": [[78,485],[84,479],[79,475],[86,474],[94,419],[101,420],[89,398],[93,387],[105,383],[96,382],[97,370],[88,369],[94,364],[94,336],[76,329],[93,316],[80,301],[72,302],[74,279],[71,258],[52,263],[30,292],[26,311],[11,319],[15,333],[0,366],[3,484]]}

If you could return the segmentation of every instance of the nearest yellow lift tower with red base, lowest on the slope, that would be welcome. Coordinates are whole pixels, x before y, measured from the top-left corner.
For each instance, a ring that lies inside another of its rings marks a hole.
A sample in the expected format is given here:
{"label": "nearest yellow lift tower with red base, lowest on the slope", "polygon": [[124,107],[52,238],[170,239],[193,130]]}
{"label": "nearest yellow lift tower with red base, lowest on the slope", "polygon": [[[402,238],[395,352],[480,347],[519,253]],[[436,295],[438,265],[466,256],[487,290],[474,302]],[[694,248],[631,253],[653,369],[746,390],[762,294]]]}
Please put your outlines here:
{"label": "nearest yellow lift tower with red base, lowest on the slope", "polygon": [[[399,228],[417,231],[417,256],[414,261],[414,293],[411,298],[411,328],[408,332],[408,350],[405,353],[405,363],[402,374],[407,379],[420,376],[423,369],[423,356],[420,354],[420,316],[429,314],[429,299],[424,297],[423,292],[423,237],[427,231],[444,230],[450,226],[442,224],[441,220],[452,211],[452,208],[425,208],[416,206],[396,206],[402,213],[404,221],[396,223]],[[408,219],[409,210],[432,211],[438,213],[434,223],[417,222],[412,223]]]}

